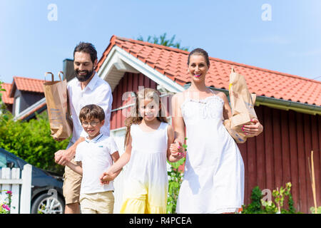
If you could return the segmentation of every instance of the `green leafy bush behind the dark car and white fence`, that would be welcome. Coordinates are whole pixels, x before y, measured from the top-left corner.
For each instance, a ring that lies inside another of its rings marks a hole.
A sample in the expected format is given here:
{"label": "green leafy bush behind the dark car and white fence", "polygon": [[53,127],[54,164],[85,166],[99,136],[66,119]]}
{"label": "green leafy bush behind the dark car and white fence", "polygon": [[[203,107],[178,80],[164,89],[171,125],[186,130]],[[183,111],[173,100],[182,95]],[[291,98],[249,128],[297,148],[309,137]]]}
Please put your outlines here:
{"label": "green leafy bush behind the dark car and white fence", "polygon": [[54,162],[54,153],[66,149],[68,139],[56,142],[46,112],[29,122],[17,120],[9,112],[0,115],[0,147],[31,165],[63,174],[64,167]]}

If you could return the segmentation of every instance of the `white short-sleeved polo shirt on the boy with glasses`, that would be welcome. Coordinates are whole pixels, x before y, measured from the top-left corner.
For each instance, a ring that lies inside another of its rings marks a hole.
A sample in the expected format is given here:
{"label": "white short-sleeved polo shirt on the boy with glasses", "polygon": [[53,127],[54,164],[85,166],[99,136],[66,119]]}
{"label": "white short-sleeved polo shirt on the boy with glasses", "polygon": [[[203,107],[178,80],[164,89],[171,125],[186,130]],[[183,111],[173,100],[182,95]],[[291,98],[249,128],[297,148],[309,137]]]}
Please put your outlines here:
{"label": "white short-sleeved polo shirt on the boy with glasses", "polygon": [[102,133],[93,140],[86,138],[77,145],[75,161],[81,162],[83,167],[81,194],[113,190],[112,181],[108,185],[101,185],[99,177],[113,165],[111,155],[116,151],[118,147],[113,138]]}

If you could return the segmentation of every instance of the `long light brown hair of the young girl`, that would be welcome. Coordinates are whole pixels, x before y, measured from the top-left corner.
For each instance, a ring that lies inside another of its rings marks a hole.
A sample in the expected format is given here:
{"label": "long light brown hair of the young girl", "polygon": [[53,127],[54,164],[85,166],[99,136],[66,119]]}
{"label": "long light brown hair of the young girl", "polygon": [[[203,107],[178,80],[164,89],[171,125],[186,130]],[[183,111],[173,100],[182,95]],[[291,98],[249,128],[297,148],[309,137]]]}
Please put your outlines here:
{"label": "long light brown hair of the young girl", "polygon": [[161,98],[157,90],[153,88],[143,88],[142,90],[139,90],[138,93],[135,93],[136,101],[135,101],[135,107],[131,110],[130,117],[126,118],[125,125],[126,125],[126,136],[125,136],[125,142],[124,145],[126,147],[127,140],[129,138],[129,133],[131,132],[131,125],[133,124],[139,124],[141,123],[141,120],[143,120],[143,117],[139,113],[139,102],[140,100],[153,100],[156,104],[160,104],[161,108],[158,111],[157,119],[161,122],[168,123],[167,118],[165,116],[165,111],[163,108],[163,105],[161,103]]}

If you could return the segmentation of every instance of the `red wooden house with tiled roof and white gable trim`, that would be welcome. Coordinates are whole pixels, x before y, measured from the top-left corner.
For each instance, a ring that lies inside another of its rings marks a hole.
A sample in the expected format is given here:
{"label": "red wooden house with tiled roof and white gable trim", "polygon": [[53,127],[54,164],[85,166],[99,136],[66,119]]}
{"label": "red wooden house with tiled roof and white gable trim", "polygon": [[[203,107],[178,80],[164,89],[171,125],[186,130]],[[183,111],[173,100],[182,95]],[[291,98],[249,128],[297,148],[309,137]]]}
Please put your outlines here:
{"label": "red wooden house with tiled roof and white gable trim", "polygon": [[[96,71],[113,90],[111,133],[123,152],[124,120],[132,91],[156,88],[168,110],[170,97],[190,86],[188,51],[112,36]],[[308,160],[314,150],[316,186],[321,187],[321,82],[218,58],[210,58],[206,85],[228,95],[230,68],[245,76],[256,93],[255,111],[264,132],[239,144],[245,163],[245,204],[255,186],[272,190],[292,183],[295,207],[313,206]],[[321,202],[320,189],[317,202]]]}

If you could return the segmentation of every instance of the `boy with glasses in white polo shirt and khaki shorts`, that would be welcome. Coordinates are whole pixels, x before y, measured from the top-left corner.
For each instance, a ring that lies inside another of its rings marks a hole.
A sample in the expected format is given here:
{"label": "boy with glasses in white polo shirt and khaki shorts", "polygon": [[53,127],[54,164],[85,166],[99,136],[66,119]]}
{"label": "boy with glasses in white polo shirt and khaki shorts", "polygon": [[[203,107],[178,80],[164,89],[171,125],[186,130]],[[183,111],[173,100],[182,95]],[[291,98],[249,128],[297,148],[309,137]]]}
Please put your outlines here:
{"label": "boy with glasses in white polo shirt and khaki shorts", "polygon": [[[76,147],[75,161],[67,162],[71,170],[83,175],[81,180],[80,204],[82,214],[113,213],[113,182],[101,185],[99,177],[119,158],[113,138],[100,132],[105,121],[103,108],[86,105],[81,108],[79,120],[88,138]],[[121,172],[115,173],[115,177]]]}

